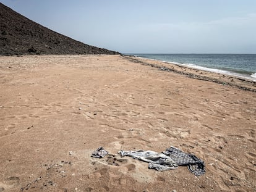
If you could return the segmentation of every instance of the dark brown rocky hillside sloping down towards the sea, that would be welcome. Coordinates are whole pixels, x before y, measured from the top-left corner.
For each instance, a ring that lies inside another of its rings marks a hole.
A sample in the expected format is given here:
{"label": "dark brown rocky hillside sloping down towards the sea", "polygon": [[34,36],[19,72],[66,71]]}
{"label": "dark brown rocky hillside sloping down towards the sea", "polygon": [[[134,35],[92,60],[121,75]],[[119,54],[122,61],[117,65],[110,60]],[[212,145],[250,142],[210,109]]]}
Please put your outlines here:
{"label": "dark brown rocky hillside sloping down towards the sea", "polygon": [[49,30],[0,2],[0,55],[119,54]]}

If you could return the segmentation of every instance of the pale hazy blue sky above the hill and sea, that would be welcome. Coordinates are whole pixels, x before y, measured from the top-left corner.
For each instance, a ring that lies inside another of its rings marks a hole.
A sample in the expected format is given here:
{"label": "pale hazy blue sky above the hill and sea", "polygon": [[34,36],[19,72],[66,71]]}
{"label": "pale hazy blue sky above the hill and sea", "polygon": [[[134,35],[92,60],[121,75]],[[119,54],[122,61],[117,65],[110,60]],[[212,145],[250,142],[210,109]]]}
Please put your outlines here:
{"label": "pale hazy blue sky above the hill and sea", "polygon": [[122,53],[256,54],[256,0],[0,0],[75,40]]}

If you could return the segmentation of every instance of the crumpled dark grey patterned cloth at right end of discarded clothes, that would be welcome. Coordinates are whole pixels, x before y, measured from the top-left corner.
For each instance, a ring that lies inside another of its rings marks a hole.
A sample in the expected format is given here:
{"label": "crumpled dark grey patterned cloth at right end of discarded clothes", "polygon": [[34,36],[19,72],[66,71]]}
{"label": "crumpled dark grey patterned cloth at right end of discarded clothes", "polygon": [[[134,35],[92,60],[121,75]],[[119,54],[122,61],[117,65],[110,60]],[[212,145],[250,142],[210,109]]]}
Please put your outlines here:
{"label": "crumpled dark grey patterned cloth at right end of discarded clothes", "polygon": [[194,173],[195,176],[200,176],[205,173],[205,163],[202,159],[194,156],[194,154],[188,154],[181,150],[171,146],[170,148],[163,151],[163,154],[171,157],[178,165],[187,165],[190,172]]}

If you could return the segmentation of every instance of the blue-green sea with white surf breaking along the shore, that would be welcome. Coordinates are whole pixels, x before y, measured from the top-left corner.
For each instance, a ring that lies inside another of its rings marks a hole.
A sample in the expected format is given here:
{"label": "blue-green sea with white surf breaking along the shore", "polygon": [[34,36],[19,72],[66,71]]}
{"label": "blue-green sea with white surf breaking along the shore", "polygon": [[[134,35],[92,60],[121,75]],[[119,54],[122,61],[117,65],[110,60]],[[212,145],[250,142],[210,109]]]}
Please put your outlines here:
{"label": "blue-green sea with white surf breaking along the shore", "polygon": [[129,54],[256,81],[256,54]]}

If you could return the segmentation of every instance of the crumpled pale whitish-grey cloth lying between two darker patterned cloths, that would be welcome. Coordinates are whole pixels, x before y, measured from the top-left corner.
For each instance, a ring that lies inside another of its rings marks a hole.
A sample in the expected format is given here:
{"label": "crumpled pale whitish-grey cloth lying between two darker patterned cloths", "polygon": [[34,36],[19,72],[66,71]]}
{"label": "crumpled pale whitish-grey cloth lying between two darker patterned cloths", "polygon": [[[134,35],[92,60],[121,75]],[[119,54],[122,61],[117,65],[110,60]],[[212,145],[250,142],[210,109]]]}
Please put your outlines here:
{"label": "crumpled pale whitish-grey cloth lying between two darker patterned cloths", "polygon": [[166,156],[163,153],[158,153],[155,151],[119,151],[121,156],[130,156],[135,159],[140,159],[145,162],[149,162],[149,169],[156,169],[159,171],[168,169],[177,169],[178,165],[171,159],[171,157]]}

